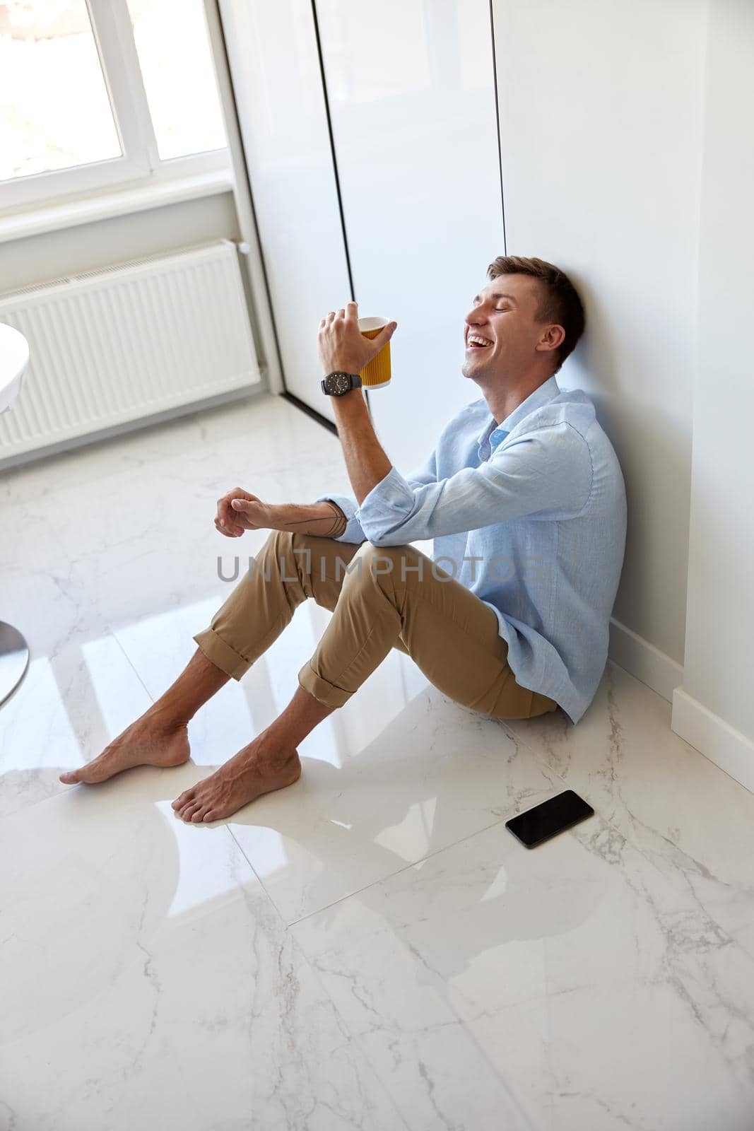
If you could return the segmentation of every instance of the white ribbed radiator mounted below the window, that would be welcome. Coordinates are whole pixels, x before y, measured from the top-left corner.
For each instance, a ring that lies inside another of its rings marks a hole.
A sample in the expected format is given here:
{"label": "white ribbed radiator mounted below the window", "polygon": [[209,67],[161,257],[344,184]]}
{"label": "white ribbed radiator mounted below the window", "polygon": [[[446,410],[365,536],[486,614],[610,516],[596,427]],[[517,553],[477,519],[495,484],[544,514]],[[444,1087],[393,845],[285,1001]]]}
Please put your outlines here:
{"label": "white ribbed radiator mounted below the window", "polygon": [[0,321],[29,344],[0,461],[261,382],[229,240],[2,294]]}

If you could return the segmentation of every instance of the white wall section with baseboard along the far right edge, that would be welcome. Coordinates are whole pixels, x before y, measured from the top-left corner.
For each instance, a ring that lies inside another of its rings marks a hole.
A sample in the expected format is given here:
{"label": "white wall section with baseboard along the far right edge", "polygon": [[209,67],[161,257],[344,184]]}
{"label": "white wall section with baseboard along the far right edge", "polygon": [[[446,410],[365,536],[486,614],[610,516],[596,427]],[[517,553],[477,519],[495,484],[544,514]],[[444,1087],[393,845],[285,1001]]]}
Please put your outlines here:
{"label": "white wall section with baseboard along the far right edge", "polygon": [[673,725],[754,789],[754,5],[710,7],[686,656]]}

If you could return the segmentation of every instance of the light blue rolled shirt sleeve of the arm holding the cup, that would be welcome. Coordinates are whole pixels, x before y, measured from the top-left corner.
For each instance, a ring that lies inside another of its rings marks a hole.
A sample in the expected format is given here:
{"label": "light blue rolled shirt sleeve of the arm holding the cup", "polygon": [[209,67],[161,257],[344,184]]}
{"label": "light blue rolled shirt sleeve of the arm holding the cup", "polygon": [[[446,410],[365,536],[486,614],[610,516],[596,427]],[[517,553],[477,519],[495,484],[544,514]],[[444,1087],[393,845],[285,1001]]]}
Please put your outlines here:
{"label": "light blue rolled shirt sleeve of the arm holding the cup", "polygon": [[592,484],[587,441],[571,424],[545,425],[502,443],[478,467],[411,485],[391,467],[355,511],[374,545],[459,534],[506,519],[573,518]]}

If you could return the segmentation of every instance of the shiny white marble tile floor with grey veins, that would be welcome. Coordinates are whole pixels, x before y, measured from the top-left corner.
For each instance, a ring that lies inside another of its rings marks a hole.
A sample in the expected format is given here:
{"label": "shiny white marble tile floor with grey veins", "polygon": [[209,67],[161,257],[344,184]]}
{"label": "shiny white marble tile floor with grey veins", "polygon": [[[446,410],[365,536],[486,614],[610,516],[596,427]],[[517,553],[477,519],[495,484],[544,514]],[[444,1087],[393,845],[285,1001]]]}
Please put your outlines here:
{"label": "shiny white marble tile floor with grey veins", "polygon": [[[502,724],[395,651],[294,786],[185,824],[173,798],[293,696],[309,602],[189,763],[58,780],[182,668],[218,556],[260,547],[214,528],[237,484],[350,490],[266,394],[0,476],[0,616],[32,647],[0,709],[0,1128],[751,1131],[754,796],[612,663],[578,726]],[[570,787],[595,817],[523,848],[505,821]]]}

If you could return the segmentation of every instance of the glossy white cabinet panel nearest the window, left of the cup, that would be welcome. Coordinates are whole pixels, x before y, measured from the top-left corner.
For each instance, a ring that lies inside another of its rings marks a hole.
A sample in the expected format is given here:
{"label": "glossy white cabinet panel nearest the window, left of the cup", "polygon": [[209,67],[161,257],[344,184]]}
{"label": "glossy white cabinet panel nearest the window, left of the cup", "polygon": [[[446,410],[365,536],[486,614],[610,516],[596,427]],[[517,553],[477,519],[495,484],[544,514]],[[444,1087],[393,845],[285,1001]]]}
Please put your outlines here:
{"label": "glossy white cabinet panel nearest the window, left of the cup", "polygon": [[285,387],[335,423],[320,319],[350,301],[310,0],[220,0]]}

